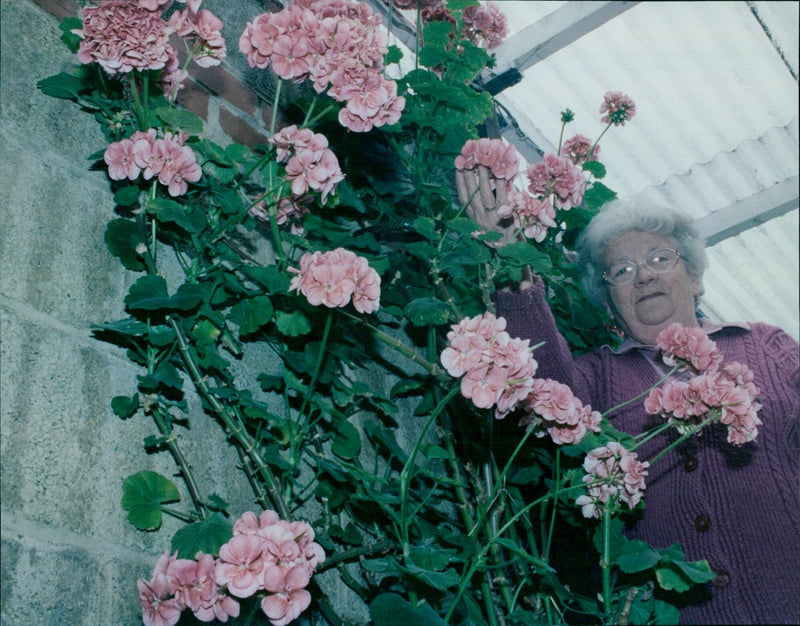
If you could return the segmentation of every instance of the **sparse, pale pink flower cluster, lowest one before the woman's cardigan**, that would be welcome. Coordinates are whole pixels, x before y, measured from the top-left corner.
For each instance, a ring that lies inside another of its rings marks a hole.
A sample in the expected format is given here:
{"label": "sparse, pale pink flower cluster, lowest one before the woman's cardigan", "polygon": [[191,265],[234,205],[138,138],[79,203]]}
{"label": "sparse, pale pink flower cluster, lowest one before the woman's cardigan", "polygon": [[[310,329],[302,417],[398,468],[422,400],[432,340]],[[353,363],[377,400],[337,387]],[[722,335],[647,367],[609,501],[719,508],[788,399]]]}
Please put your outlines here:
{"label": "sparse, pale pink flower cluster, lowest one before the woman's cardigan", "polygon": [[616,441],[589,452],[583,461],[586,493],[575,500],[583,516],[599,518],[603,507],[615,502],[633,509],[642,499],[649,466]]}

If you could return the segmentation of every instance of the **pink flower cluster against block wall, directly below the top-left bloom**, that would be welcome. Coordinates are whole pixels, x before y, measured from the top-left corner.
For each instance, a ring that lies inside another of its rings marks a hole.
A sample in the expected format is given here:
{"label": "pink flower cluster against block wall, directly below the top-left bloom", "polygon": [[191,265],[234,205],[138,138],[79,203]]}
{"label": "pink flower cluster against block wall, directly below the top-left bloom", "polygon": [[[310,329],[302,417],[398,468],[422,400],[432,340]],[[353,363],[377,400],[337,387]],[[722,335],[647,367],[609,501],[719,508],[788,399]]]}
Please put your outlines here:
{"label": "pink flower cluster against block wall, directly below the top-left bloom", "polygon": [[188,183],[196,183],[203,174],[194,152],[183,141],[182,136],[172,133],[157,138],[154,128],[136,131],[106,148],[103,160],[108,175],[113,180],[136,180],[139,174],[145,180],[155,176],[166,185],[169,195],[182,196],[189,189]]}

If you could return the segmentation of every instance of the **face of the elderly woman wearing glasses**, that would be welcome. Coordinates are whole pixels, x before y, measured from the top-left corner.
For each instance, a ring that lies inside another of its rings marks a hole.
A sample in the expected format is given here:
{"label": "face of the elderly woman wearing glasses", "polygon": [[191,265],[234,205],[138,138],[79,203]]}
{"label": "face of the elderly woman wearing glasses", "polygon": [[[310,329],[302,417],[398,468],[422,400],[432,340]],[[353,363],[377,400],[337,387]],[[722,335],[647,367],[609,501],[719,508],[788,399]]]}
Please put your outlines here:
{"label": "face of the elderly woman wearing glasses", "polygon": [[674,322],[697,326],[695,296],[700,292],[696,276],[678,263],[670,271],[657,274],[644,263],[648,254],[659,248],[677,248],[670,237],[632,230],[611,242],[603,255],[604,269],[620,261],[636,263],[633,280],[624,285],[606,284],[611,313],[625,333],[648,345],[655,345],[656,336]]}

